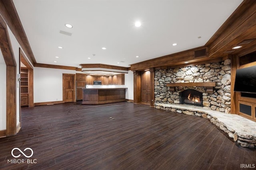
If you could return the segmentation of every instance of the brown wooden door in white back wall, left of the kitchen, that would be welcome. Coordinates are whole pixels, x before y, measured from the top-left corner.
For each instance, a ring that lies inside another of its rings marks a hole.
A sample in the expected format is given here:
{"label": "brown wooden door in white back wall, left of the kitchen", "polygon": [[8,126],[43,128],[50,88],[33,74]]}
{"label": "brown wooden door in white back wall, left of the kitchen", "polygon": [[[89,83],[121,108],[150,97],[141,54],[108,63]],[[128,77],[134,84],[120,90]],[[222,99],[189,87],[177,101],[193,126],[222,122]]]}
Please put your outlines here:
{"label": "brown wooden door in white back wall, left of the kitchen", "polygon": [[63,74],[63,102],[74,102],[75,74]]}

